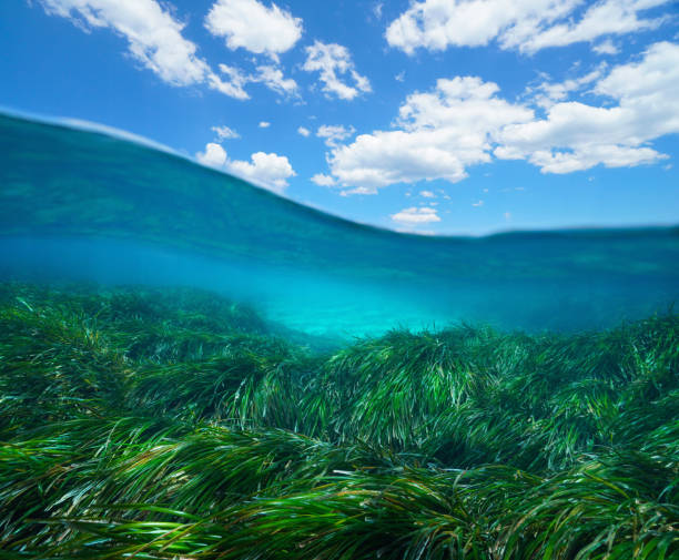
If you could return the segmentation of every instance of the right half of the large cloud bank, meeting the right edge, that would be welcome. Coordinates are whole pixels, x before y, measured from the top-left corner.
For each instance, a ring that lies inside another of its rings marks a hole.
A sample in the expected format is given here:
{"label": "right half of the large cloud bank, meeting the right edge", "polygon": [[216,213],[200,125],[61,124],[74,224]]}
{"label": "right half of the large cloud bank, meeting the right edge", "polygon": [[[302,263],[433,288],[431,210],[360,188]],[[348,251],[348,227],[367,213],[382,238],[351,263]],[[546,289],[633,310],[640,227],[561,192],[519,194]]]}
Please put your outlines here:
{"label": "right half of the large cloud bank, meeting the right edge", "polygon": [[679,132],[679,45],[651,45],[643,58],[614,68],[594,91],[615,101],[592,106],[566,101],[545,119],[506,126],[495,155],[527,159],[545,173],[569,173],[598,164],[653,163],[665,155],[646,145]]}

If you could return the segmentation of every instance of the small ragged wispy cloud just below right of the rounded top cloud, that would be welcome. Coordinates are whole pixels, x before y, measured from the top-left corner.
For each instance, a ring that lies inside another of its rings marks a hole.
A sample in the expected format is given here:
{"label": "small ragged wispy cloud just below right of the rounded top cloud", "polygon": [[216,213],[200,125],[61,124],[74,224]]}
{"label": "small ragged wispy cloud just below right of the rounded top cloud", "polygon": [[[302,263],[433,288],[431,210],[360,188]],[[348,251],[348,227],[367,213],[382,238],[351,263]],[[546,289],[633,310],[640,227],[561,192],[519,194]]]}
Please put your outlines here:
{"label": "small ragged wispy cloud just below right of the rounded top cloud", "polygon": [[[307,72],[321,73],[320,80],[327,96],[336,95],[340,99],[352,100],[362,92],[372,91],[368,79],[356,72],[348,49],[341,44],[314,41],[314,44],[306,48],[306,61],[303,68]],[[342,81],[348,78],[353,85]]]}

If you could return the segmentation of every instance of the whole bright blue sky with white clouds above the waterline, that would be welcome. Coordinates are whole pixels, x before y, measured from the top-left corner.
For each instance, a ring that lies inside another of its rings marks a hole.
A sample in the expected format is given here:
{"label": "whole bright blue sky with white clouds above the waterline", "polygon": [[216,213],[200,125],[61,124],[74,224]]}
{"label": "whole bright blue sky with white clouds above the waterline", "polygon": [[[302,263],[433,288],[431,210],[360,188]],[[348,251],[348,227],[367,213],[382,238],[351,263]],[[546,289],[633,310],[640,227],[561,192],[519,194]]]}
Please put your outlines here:
{"label": "whole bright blue sky with white clouds above the waterline", "polygon": [[404,231],[679,223],[670,0],[8,0],[0,105]]}

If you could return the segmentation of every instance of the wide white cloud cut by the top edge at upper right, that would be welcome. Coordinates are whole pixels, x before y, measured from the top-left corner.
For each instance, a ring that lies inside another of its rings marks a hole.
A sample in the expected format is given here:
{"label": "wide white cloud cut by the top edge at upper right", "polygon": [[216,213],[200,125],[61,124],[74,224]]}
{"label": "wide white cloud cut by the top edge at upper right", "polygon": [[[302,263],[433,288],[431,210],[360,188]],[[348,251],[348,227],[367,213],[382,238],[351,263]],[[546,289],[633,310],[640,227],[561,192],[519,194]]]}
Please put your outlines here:
{"label": "wide white cloud cut by the top edge at upper right", "polygon": [[580,16],[576,10],[581,0],[420,0],[388,26],[386,39],[408,54],[418,48],[442,51],[493,40],[503,49],[531,53],[653,29],[663,19],[645,19],[639,12],[670,1],[601,0]]}

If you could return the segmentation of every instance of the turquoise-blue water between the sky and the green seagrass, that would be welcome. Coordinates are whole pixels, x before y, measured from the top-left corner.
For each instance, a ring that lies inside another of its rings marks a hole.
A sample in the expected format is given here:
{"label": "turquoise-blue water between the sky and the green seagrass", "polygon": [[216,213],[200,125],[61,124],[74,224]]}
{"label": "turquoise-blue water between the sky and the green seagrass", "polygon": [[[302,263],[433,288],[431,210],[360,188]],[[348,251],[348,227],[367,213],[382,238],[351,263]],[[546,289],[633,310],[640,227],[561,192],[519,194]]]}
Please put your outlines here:
{"label": "turquoise-blue water between the sky and the green seagrass", "polygon": [[666,312],[679,228],[383,231],[181,156],[0,114],[0,281],[190,285],[343,338],[483,323],[576,330]]}

